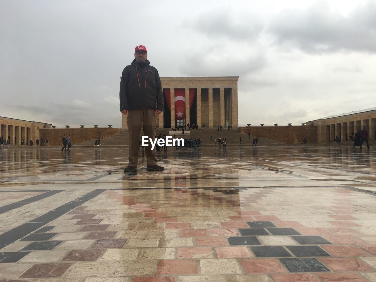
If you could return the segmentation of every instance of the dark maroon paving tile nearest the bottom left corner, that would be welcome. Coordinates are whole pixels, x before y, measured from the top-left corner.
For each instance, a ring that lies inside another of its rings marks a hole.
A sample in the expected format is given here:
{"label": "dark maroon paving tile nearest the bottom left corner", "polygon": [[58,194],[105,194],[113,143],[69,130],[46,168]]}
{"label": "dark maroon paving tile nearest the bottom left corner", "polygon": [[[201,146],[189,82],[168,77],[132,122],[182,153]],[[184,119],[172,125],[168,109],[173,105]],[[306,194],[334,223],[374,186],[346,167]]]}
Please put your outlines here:
{"label": "dark maroon paving tile nearest the bottom left corner", "polygon": [[71,265],[71,263],[34,264],[20,278],[61,277]]}

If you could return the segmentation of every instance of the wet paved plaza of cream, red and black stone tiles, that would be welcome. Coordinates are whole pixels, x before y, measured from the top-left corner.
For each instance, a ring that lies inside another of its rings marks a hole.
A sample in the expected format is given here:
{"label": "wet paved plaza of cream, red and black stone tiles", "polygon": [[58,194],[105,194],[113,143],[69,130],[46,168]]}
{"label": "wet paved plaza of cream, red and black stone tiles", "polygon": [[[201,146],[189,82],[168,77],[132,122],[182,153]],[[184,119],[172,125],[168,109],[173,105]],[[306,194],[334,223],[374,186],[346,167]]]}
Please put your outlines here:
{"label": "wet paved plaza of cream, red and black stone tiles", "polygon": [[376,281],[373,148],[0,151],[0,281]]}

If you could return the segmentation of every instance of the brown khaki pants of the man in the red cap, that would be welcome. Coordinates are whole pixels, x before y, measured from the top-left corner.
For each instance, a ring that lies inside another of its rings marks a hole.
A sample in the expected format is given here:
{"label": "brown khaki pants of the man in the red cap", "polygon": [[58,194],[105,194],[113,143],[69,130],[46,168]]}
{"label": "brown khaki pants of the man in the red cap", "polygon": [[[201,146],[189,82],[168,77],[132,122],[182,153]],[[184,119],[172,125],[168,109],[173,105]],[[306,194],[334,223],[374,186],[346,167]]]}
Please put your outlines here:
{"label": "brown khaki pants of the man in the red cap", "polygon": [[[144,136],[155,139],[155,128],[157,125],[157,117],[155,110],[152,109],[136,109],[128,112],[128,133],[129,133],[129,161],[128,165],[137,167],[138,162],[138,141],[141,140],[141,127],[144,128]],[[150,141],[148,147],[145,147],[146,162],[149,167],[158,164],[155,148],[152,150]]]}

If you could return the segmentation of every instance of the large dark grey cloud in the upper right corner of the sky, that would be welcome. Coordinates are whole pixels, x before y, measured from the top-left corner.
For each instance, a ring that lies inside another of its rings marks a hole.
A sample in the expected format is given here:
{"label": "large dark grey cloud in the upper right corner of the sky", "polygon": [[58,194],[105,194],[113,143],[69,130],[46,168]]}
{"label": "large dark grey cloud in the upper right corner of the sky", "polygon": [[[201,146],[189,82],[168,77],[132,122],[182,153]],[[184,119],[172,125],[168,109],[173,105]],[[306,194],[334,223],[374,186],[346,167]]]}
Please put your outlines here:
{"label": "large dark grey cloud in the upper right corner of the sky", "polygon": [[342,50],[376,52],[376,3],[368,2],[344,16],[317,2],[306,11],[285,10],[271,20],[276,43],[296,45],[307,53]]}

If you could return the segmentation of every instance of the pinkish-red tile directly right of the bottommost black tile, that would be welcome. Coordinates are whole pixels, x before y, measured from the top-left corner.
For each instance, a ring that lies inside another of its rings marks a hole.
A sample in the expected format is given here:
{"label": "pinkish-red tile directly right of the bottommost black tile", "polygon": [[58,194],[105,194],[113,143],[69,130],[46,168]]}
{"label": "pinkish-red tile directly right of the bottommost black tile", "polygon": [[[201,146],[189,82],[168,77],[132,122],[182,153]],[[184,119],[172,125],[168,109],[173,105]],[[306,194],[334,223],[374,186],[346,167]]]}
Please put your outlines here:
{"label": "pinkish-red tile directly right of the bottommost black tile", "polygon": [[374,271],[356,258],[320,258],[332,271]]}

